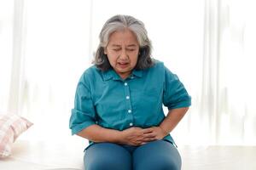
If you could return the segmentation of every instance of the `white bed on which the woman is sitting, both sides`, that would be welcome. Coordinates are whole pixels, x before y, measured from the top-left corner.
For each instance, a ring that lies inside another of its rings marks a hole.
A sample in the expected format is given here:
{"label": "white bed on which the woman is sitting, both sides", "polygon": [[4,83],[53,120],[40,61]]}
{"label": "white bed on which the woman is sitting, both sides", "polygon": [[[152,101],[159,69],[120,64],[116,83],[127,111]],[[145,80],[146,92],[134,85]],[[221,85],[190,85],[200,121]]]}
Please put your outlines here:
{"label": "white bed on which the woman is sitting, both sides", "polygon": [[[86,144],[85,144],[86,145]],[[84,144],[17,140],[1,170],[82,170]],[[255,170],[256,146],[179,146],[183,170]],[[121,170],[121,168],[120,168]]]}

